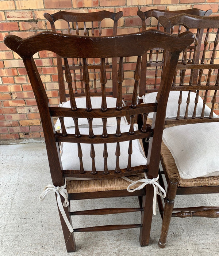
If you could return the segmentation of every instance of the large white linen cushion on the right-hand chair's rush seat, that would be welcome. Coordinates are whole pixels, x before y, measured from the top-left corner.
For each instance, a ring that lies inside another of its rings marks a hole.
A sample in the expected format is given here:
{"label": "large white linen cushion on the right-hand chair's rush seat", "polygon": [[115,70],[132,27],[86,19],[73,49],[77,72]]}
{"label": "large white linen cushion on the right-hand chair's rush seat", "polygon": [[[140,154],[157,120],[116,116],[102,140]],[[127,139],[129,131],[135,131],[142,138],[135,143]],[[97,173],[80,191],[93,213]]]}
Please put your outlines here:
{"label": "large white linen cushion on the right-hand chair's rush seat", "polygon": [[166,128],[163,141],[181,178],[219,175],[219,122]]}

